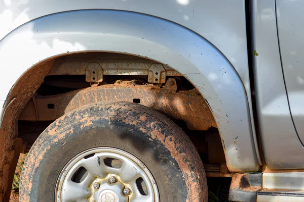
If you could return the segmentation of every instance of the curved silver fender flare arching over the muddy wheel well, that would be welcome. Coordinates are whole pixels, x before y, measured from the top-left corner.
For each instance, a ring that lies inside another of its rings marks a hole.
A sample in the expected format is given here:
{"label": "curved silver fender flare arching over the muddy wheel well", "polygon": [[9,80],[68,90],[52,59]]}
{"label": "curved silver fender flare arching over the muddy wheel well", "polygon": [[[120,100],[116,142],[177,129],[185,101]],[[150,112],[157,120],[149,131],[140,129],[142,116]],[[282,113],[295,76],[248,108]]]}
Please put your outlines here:
{"label": "curved silver fender flare arching over the muddy wheel well", "polygon": [[52,57],[89,51],[139,55],[182,73],[210,105],[229,170],[258,170],[248,100],[236,70],[203,37],[164,19],[81,10],[30,21],[0,41],[0,99],[6,99],[28,68]]}

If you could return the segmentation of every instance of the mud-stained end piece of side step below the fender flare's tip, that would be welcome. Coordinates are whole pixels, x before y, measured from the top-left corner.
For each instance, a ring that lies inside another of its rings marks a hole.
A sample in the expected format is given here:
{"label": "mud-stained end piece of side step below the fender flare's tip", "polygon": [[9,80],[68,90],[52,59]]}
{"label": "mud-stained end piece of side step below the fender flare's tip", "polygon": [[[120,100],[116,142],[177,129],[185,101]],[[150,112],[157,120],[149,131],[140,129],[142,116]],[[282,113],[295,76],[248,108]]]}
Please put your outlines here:
{"label": "mud-stained end piece of side step below the fender flare's tip", "polygon": [[262,189],[262,173],[237,173],[232,177],[229,200],[255,202]]}

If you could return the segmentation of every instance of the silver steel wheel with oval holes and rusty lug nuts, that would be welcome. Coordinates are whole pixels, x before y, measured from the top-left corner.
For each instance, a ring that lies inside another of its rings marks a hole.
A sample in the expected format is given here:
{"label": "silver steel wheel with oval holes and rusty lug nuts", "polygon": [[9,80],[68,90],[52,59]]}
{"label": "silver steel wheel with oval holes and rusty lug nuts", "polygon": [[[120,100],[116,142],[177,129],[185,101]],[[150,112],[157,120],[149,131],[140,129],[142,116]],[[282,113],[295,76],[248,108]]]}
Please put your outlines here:
{"label": "silver steel wheel with oval holes and rusty lug nuts", "polygon": [[146,166],[117,148],[92,148],[75,156],[57,180],[56,201],[159,201]]}

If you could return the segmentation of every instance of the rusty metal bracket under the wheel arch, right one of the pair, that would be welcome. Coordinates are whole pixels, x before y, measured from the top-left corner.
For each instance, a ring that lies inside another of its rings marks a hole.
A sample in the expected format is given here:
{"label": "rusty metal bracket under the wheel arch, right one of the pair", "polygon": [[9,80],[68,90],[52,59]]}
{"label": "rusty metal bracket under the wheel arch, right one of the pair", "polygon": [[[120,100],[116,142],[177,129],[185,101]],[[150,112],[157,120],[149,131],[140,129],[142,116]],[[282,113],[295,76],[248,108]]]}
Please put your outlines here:
{"label": "rusty metal bracket under the wheel arch, right one of the pair", "polygon": [[162,64],[151,64],[148,69],[148,82],[149,83],[165,83],[166,70]]}

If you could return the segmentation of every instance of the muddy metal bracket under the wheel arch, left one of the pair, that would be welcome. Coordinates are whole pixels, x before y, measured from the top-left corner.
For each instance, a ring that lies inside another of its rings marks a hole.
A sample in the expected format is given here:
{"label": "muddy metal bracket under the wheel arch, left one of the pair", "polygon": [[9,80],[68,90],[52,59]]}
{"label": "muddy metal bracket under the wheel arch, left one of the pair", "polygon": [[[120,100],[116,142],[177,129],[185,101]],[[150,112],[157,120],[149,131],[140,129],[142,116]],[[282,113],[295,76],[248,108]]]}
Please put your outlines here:
{"label": "muddy metal bracket under the wheel arch, left one of the pair", "polygon": [[86,81],[90,82],[91,86],[98,86],[102,81],[103,70],[99,63],[89,63],[86,67]]}

